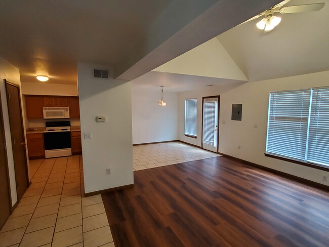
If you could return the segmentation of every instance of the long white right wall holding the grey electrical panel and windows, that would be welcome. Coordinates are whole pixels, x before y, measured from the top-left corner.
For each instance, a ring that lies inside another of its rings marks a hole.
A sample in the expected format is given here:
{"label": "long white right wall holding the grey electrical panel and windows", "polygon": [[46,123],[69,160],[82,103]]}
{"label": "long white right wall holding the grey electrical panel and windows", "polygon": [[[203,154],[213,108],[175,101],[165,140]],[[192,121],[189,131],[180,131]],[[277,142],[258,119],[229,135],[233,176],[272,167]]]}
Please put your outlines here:
{"label": "long white right wall holding the grey electrical panel and windows", "polygon": [[[329,71],[245,83],[232,89],[190,91],[179,93],[179,140],[201,145],[202,96],[220,95],[219,152],[241,158],[261,166],[292,174],[317,183],[329,172],[309,168],[264,155],[268,116],[269,92],[329,86]],[[184,137],[184,100],[198,98],[198,138]],[[242,104],[242,121],[231,120],[231,105]],[[225,124],[224,124],[225,123]],[[258,125],[255,129],[254,125]],[[237,147],[241,146],[239,150]]]}

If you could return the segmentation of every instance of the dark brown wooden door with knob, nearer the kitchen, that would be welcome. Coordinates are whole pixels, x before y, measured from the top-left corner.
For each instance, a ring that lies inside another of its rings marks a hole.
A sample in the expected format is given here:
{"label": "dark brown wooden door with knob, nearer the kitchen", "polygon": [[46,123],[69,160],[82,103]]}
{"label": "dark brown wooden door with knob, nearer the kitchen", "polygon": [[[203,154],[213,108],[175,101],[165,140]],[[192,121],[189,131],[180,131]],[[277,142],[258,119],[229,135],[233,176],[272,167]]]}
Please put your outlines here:
{"label": "dark brown wooden door with knob, nearer the kitchen", "polygon": [[10,134],[12,138],[17,199],[20,200],[28,187],[25,137],[19,86],[6,81]]}

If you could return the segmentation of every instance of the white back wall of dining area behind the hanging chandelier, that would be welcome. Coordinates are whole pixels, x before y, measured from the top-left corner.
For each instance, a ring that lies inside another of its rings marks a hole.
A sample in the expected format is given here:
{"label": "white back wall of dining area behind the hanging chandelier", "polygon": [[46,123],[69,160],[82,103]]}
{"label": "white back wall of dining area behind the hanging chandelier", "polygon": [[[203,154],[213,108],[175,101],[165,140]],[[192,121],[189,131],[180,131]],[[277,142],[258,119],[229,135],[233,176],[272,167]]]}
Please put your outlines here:
{"label": "white back wall of dining area behind the hanging chandelier", "polygon": [[160,87],[132,83],[133,144],[178,139],[178,93],[163,91],[167,106],[158,106]]}

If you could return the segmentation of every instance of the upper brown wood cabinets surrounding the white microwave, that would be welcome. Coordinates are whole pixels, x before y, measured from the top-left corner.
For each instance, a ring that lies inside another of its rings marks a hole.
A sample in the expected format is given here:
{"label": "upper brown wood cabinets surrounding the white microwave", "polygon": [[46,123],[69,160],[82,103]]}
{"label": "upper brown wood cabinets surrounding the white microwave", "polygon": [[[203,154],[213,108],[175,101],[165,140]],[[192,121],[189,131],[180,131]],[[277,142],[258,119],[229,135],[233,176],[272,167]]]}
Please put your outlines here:
{"label": "upper brown wood cabinets surrounding the white microwave", "polygon": [[43,107],[69,107],[70,117],[80,117],[79,97],[25,95],[27,118],[43,118]]}

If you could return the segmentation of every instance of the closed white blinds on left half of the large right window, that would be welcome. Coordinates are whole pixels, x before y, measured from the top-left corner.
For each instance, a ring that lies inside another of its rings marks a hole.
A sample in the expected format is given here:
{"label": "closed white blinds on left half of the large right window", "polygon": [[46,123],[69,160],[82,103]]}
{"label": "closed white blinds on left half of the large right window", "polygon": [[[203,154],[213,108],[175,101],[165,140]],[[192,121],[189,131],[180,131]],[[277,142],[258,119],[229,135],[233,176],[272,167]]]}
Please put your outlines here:
{"label": "closed white blinds on left half of the large right window", "polygon": [[270,94],[267,152],[305,158],[311,90]]}

